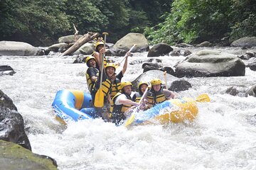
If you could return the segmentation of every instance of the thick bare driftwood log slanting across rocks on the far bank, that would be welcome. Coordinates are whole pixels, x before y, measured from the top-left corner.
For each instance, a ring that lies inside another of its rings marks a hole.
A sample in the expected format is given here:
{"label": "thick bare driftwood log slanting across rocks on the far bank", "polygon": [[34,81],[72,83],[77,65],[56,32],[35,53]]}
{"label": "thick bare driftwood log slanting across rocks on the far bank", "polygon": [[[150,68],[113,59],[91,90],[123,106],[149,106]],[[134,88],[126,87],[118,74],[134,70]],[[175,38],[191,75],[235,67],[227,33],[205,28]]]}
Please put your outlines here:
{"label": "thick bare driftwood log slanting across rocks on the far bank", "polygon": [[72,45],[68,50],[65,50],[65,52],[63,52],[63,54],[61,54],[60,56],[64,56],[64,55],[72,55],[73,52],[75,52],[76,50],[78,50],[79,47],[81,47],[82,45],[84,45],[86,42],[93,40],[94,38],[97,37],[97,33],[87,33],[85,35],[82,35],[82,37],[80,37],[74,45]]}

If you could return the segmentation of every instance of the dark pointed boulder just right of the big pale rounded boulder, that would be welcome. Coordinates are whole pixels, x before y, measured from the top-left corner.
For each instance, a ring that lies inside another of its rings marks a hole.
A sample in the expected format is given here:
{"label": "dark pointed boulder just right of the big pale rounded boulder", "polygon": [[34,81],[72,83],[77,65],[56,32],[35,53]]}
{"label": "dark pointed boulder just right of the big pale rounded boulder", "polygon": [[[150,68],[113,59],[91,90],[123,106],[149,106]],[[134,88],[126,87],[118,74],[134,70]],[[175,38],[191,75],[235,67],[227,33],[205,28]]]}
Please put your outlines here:
{"label": "dark pointed boulder just right of the big pale rounded boulder", "polygon": [[151,47],[147,57],[159,57],[161,55],[168,55],[172,50],[174,49],[170,45],[161,42],[157,45],[154,45],[154,47]]}

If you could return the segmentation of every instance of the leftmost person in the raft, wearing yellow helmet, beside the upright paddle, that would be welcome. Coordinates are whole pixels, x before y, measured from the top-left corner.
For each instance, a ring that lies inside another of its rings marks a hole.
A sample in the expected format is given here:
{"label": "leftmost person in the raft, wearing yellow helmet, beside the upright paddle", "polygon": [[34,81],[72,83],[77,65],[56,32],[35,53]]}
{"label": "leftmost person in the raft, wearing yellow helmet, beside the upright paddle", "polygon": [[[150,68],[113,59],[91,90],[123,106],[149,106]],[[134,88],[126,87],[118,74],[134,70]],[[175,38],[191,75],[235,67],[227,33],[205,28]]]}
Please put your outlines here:
{"label": "leftmost person in the raft, wearing yellow helmet, beside the upright paddle", "polygon": [[85,63],[87,64],[87,67],[89,67],[86,71],[86,81],[87,81],[87,87],[90,93],[92,92],[92,87],[95,84],[95,81],[97,80],[97,77],[99,77],[99,70],[96,68],[96,60],[93,56],[88,56],[85,60]]}

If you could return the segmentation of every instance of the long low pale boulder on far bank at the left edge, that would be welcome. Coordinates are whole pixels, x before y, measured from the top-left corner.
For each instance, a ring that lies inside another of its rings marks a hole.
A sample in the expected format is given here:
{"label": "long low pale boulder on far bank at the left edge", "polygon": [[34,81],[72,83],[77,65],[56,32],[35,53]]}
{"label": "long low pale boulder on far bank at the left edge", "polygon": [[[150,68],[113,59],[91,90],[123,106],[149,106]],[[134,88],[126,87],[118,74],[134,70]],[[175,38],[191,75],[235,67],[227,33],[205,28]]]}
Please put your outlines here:
{"label": "long low pale boulder on far bank at the left edge", "polygon": [[0,41],[0,55],[39,55],[41,49],[26,42]]}

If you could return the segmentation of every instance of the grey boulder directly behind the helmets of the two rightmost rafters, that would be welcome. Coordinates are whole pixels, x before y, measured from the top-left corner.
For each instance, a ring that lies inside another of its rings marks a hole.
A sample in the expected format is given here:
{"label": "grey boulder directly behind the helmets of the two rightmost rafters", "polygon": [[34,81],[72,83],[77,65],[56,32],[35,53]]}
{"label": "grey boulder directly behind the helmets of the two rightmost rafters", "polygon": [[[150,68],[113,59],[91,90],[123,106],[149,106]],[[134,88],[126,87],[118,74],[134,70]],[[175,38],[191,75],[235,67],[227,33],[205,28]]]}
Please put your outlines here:
{"label": "grey boulder directly behind the helmets of the two rightmost rafters", "polygon": [[[140,74],[139,77],[137,77],[134,81],[132,81],[132,88],[134,90],[138,90],[138,84],[140,81],[146,81],[150,82],[151,79],[161,79],[162,84],[165,84],[164,82],[164,72],[160,70],[150,70],[148,72],[144,72],[143,74]],[[173,81],[178,80],[178,78],[172,76],[171,74],[166,74],[167,84],[168,86],[171,86],[171,83]]]}

